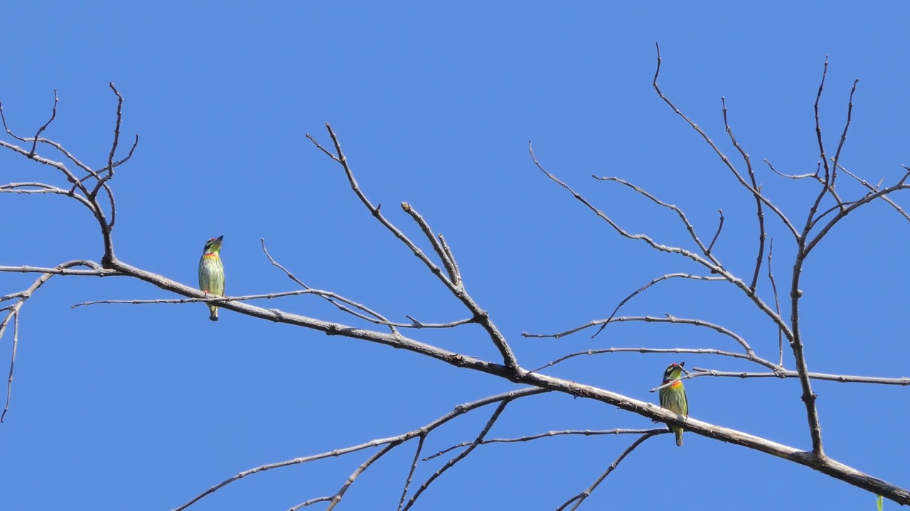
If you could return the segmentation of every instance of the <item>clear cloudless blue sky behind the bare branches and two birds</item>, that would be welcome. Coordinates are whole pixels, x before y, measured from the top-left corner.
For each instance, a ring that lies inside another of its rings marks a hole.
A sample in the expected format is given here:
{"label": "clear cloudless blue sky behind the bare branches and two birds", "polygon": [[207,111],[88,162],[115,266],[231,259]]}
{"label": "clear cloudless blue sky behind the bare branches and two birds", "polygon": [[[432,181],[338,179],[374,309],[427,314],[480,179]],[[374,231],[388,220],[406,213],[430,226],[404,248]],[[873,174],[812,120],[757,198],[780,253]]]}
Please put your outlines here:
{"label": "clear cloudless blue sky behind the bare branches and two birds", "polygon": [[[692,326],[620,324],[594,339],[521,337],[604,318],[652,278],[698,271],[615,235],[541,175],[528,141],[549,171],[630,231],[661,243],[687,243],[675,215],[591,175],[620,176],[681,206],[703,237],[713,234],[723,208],[716,252],[745,278],[757,238],[753,199],[654,94],[654,43],[662,47],[664,93],[733,156],[723,132],[725,96],[763,192],[802,223],[816,186],[773,175],[761,161],[790,174],[814,170],[812,105],[825,55],[828,147],[837,143],[859,78],[842,163],[885,183],[910,164],[908,15],[910,8],[895,3],[18,3],[5,6],[0,100],[10,127],[30,135],[45,122],[56,89],[57,120],[45,135],[98,167],[109,150],[116,102],[107,84],[114,82],[125,97],[123,133],[140,136],[136,155],[112,181],[116,254],[187,285],[196,282],[205,241],[225,235],[229,295],[295,289],[268,264],[263,238],[309,286],[386,316],[469,316],[305,138],[329,144],[329,122],[360,185],[393,222],[424,241],[398,209],[408,201],[446,235],[468,290],[522,366],[610,346],[733,349],[729,339]],[[8,152],[0,152],[0,175],[4,183],[59,182],[47,167]],[[840,186],[846,196],[863,193],[846,176]],[[908,204],[906,195],[895,198]],[[3,195],[0,215],[0,266],[101,255],[92,218],[73,201]],[[794,245],[779,222],[769,218],[768,225],[775,275],[785,287]],[[869,205],[812,255],[802,316],[810,369],[907,374],[907,228],[888,206]],[[33,278],[0,274],[0,295]],[[766,278],[759,289],[770,296]],[[242,470],[399,435],[460,403],[514,388],[385,346],[228,311],[211,323],[198,304],[70,308],[172,297],[124,278],[66,277],[25,305],[12,406],[0,425],[0,508],[170,509]],[[264,306],[357,324],[314,297]],[[701,317],[733,329],[759,355],[776,356],[773,326],[731,286],[665,283],[622,314]],[[475,326],[413,336],[496,359]],[[0,341],[0,360],[11,340]],[[578,357],[550,374],[654,401],[648,389],[678,360],[757,369],[713,356],[613,354]],[[785,360],[793,368],[792,356]],[[699,378],[687,386],[696,418],[810,446],[796,380]],[[814,389],[828,455],[910,486],[910,444],[901,433],[910,422],[908,389],[828,382]],[[484,408],[441,428],[425,452],[472,439],[490,413]],[[507,407],[490,437],[651,426],[600,403],[536,396]],[[430,486],[418,508],[555,508],[632,440],[481,446]],[[341,508],[394,508],[414,447],[399,447],[360,476]],[[190,509],[287,509],[331,495],[368,456],[250,476]],[[441,463],[421,465],[414,484]],[[682,448],[671,436],[645,442],[581,508],[649,508],[643,499],[669,496],[682,496],[680,506],[745,510],[875,506],[874,496],[802,466],[687,434]]]}

